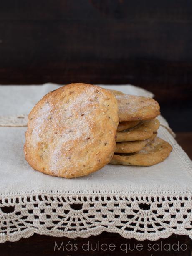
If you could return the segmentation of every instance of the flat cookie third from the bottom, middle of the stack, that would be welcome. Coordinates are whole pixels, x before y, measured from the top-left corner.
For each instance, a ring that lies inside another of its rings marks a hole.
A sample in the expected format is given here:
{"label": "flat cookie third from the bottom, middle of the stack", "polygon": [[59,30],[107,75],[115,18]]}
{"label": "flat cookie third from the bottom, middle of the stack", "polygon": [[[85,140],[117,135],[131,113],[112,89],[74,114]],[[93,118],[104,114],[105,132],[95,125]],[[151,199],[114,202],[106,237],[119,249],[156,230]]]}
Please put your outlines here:
{"label": "flat cookie third from the bottom, middle of the stack", "polygon": [[157,119],[141,121],[135,127],[123,132],[117,132],[116,142],[149,139],[155,132],[157,132],[159,125],[160,123]]}

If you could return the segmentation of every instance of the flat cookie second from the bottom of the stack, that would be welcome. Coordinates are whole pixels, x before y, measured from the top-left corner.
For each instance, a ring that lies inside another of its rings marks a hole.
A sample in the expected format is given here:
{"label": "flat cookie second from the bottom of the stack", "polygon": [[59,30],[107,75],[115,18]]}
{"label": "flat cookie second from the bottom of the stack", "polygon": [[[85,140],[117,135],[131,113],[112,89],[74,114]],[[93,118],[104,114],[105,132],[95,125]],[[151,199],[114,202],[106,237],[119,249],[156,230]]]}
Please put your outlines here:
{"label": "flat cookie second from the bottom of the stack", "polygon": [[118,142],[116,143],[116,149],[114,153],[134,153],[142,150],[149,142],[151,142],[157,133],[153,134],[152,137],[145,140],[136,140],[128,142]]}

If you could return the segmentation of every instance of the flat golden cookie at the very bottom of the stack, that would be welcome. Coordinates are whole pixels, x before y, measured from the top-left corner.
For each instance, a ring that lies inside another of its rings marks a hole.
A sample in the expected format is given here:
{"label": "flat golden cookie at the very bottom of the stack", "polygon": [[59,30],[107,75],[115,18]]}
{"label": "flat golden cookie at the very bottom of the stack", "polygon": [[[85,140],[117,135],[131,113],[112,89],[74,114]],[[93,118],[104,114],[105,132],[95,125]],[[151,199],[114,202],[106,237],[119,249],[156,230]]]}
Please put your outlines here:
{"label": "flat golden cookie at the very bottom of the stack", "polygon": [[143,150],[137,153],[127,155],[114,154],[110,164],[151,166],[163,162],[171,151],[172,146],[168,142],[156,137]]}

